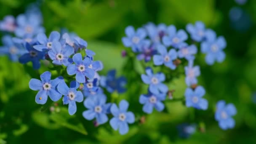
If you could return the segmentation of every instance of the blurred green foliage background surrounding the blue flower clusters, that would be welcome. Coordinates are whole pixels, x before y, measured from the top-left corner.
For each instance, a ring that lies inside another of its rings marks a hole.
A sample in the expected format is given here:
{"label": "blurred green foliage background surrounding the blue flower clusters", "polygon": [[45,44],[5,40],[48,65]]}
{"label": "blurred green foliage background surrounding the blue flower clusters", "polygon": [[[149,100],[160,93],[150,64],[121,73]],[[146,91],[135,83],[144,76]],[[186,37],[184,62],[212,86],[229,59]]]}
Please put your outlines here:
{"label": "blurred green foliage background surrounding the blue flower clusters", "polygon": [[[5,15],[24,13],[32,2],[0,0],[0,19]],[[236,27],[245,20],[230,21],[229,11],[234,6],[242,8],[251,19],[247,29]],[[35,103],[36,92],[28,88],[35,72],[30,67],[12,63],[7,57],[0,57],[0,143],[256,143],[256,103],[253,103],[256,91],[256,0],[248,0],[245,5],[238,5],[234,0],[44,0],[41,11],[47,35],[61,27],[75,32],[88,41],[88,48],[96,52],[95,59],[103,62],[101,75],[115,68],[118,75],[127,76],[128,92],[119,98],[131,101],[131,111],[141,111],[138,99],[146,90],[140,91],[145,85],[133,83],[139,75],[128,74],[133,68],[143,73],[138,62],[121,57],[121,51],[125,49],[121,38],[128,25],[138,28],[152,21],[175,24],[184,29],[187,23],[200,20],[217,35],[224,35],[227,57],[223,63],[213,66],[205,64],[203,55],[197,57],[201,69],[199,83],[206,88],[205,98],[209,101],[207,111],[188,109],[181,102],[167,101],[164,112],[144,114],[145,123],[133,124],[125,136],[112,131],[108,123],[94,127],[92,121],[80,115],[85,110],[82,103],[77,104],[78,111],[74,116],[68,115],[67,107],[61,101],[58,106],[48,103],[42,108]],[[47,68],[43,67],[39,72],[45,70]],[[174,78],[169,88],[176,90],[174,98],[182,97],[186,88],[184,76]],[[221,99],[237,107],[236,126],[232,130],[221,130],[214,119],[215,104]],[[54,112],[50,112],[49,107],[54,107]],[[189,139],[181,139],[176,129],[180,123],[200,123],[205,126],[205,132],[198,129]]]}

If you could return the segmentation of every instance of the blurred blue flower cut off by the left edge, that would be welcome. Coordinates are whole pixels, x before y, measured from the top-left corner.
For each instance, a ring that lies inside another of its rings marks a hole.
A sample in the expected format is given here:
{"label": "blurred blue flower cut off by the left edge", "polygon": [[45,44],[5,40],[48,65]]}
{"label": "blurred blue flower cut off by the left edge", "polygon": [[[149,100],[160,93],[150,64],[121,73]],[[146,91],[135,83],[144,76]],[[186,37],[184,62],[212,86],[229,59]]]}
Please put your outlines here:
{"label": "blurred blue flower cut off by the left edge", "polygon": [[0,55],[8,55],[11,61],[18,61],[19,56],[26,52],[21,44],[14,43],[10,35],[2,37],[4,46],[0,47]]}

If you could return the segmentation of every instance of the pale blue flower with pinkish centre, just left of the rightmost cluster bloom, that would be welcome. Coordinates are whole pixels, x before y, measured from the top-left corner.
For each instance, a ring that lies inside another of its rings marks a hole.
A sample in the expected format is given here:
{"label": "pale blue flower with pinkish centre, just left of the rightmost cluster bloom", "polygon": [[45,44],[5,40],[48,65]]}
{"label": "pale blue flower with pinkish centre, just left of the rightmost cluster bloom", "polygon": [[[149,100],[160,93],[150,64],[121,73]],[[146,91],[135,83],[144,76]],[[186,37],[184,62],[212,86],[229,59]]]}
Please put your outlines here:
{"label": "pale blue flower with pinkish centre, just left of the rightmost cluster bloom", "polygon": [[187,43],[179,46],[178,56],[179,58],[185,58],[187,60],[195,59],[197,53],[197,47],[195,45],[187,45]]}

